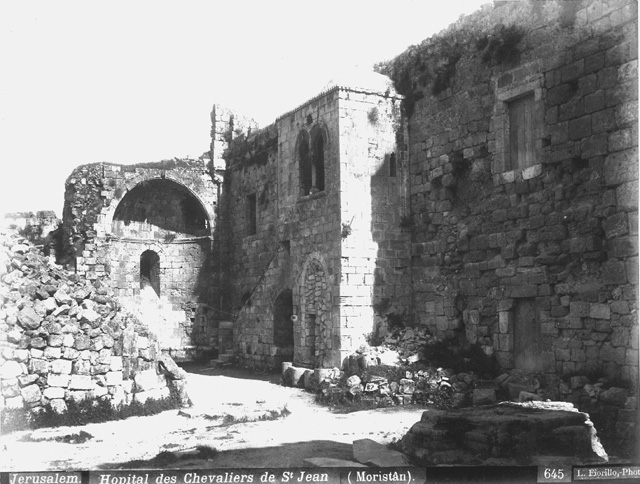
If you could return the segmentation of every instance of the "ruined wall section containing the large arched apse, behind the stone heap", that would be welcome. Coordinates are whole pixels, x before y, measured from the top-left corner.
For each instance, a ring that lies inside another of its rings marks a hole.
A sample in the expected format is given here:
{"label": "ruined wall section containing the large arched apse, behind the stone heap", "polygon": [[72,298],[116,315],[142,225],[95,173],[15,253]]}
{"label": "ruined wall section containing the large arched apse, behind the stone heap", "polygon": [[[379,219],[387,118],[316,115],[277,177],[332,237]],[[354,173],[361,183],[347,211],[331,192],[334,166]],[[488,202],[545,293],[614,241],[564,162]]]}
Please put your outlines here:
{"label": "ruined wall section containing the large arched apse, behind the stone heap", "polygon": [[167,315],[152,330],[180,359],[217,339],[216,181],[201,160],[167,160],[83,165],[66,184],[71,265],[90,281],[105,281],[129,306],[150,296]]}

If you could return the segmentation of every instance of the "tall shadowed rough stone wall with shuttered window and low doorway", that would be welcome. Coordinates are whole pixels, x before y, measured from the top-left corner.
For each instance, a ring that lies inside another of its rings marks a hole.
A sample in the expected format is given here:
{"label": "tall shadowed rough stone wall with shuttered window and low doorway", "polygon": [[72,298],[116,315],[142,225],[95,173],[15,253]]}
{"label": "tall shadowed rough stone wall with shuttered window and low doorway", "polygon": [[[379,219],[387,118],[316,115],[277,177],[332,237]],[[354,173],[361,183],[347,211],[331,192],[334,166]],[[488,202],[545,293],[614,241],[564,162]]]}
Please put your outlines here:
{"label": "tall shadowed rough stone wall with shuttered window and low doorway", "polygon": [[637,383],[636,2],[496,3],[387,72],[410,115],[417,321],[504,368]]}

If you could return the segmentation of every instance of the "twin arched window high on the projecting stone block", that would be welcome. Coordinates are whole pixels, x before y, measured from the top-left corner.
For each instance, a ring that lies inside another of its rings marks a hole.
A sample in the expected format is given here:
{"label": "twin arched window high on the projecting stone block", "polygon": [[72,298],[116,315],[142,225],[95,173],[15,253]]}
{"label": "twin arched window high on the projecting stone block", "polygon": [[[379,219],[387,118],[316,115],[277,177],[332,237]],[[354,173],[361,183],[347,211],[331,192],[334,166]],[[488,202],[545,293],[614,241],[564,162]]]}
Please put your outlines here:
{"label": "twin arched window high on the projecting stone block", "polygon": [[302,131],[298,137],[301,196],[324,190],[325,135],[318,126],[311,133]]}

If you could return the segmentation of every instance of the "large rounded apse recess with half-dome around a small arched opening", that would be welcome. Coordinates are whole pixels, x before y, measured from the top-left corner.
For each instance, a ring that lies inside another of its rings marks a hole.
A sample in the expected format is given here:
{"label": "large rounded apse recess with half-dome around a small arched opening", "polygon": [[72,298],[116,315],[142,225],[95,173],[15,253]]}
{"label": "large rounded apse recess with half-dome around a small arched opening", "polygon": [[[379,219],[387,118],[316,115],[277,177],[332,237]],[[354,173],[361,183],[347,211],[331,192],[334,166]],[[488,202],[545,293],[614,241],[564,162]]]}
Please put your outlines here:
{"label": "large rounded apse recess with half-dome around a small arched opening", "polygon": [[134,297],[144,289],[141,257],[152,250],[162,259],[156,294],[175,308],[199,301],[214,225],[207,205],[168,173],[136,174],[122,185],[128,188],[120,187],[102,223],[118,294]]}

